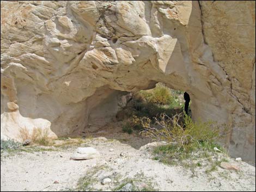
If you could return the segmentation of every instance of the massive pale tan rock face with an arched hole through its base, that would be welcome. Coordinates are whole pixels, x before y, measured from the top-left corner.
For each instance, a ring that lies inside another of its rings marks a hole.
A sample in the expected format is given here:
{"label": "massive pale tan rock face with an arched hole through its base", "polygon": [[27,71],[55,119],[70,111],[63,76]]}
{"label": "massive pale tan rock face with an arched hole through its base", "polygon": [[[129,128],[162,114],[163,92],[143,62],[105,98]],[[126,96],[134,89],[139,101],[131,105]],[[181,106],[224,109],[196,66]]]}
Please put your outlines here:
{"label": "massive pale tan rock face with an arched hole through its base", "polygon": [[1,138],[80,135],[162,82],[255,160],[255,2],[199,3],[1,1]]}

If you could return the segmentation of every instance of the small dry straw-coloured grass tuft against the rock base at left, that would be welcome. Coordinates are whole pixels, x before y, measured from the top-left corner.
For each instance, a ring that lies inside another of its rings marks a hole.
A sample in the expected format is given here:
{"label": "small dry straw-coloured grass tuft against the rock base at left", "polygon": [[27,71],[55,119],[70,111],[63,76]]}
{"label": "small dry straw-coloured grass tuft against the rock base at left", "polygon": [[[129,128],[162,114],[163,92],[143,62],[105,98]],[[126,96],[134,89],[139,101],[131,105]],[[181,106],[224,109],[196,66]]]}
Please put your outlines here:
{"label": "small dry straw-coloured grass tuft against the rock base at left", "polygon": [[33,144],[47,145],[49,143],[48,134],[48,129],[35,127],[32,132],[29,132],[28,128],[24,127],[20,129],[19,137],[22,141],[30,139]]}

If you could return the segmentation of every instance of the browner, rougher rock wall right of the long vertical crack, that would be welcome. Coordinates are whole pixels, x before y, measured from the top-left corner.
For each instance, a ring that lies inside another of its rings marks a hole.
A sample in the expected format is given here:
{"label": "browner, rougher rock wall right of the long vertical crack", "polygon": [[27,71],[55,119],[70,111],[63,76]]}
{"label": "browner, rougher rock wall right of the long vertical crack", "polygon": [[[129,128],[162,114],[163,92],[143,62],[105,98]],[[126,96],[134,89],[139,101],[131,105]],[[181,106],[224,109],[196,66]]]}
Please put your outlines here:
{"label": "browner, rougher rock wall right of the long vertical crack", "polygon": [[[229,80],[230,152],[255,149],[255,2],[200,1],[205,44]],[[251,148],[249,146],[252,146]],[[254,153],[255,160],[255,153]]]}

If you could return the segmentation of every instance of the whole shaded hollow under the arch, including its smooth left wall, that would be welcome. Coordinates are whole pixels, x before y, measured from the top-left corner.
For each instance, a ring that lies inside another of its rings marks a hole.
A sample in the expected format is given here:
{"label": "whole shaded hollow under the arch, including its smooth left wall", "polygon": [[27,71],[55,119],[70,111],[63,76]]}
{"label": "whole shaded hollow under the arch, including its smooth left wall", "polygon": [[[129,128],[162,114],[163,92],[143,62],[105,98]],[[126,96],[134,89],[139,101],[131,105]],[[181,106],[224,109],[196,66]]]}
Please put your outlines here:
{"label": "whole shaded hollow under the arch, including its smooth left wall", "polygon": [[[183,121],[186,114],[183,90],[171,89],[164,83],[153,83],[148,88],[133,92],[108,88],[100,90],[99,95],[102,95],[102,91],[105,92],[104,95],[109,91],[109,96],[90,110],[88,123],[78,135],[84,138],[104,137],[108,140],[119,140],[121,143],[139,148],[150,143],[150,139],[139,136],[142,125],[135,122],[135,116],[148,117],[154,122],[161,114],[169,117],[179,114],[180,120]],[[95,96],[92,100],[95,100]],[[187,106],[187,115],[190,117],[191,103],[190,101]]]}

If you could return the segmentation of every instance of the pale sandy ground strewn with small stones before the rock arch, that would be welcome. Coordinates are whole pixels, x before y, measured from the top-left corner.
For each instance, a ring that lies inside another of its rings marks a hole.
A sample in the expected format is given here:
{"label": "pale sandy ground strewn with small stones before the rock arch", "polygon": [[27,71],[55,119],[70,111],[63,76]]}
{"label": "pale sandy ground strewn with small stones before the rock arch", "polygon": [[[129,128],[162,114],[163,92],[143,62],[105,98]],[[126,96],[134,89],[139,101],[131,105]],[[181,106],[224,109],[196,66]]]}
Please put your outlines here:
{"label": "pale sandy ground strewn with small stones before the rock arch", "polygon": [[[74,190],[79,178],[100,165],[107,169],[98,170],[95,175],[95,190],[113,190],[115,179],[121,183],[125,178],[143,175],[143,179],[159,191],[255,191],[255,167],[245,162],[229,159],[240,171],[218,167],[206,174],[201,167],[192,171],[153,160],[150,147],[147,147],[149,141],[135,134],[122,133],[120,127],[109,126],[92,135],[93,138],[84,139],[82,146],[96,148],[101,154],[96,159],[70,160],[76,147],[1,157],[1,191]],[[114,151],[109,151],[110,148]],[[101,185],[106,177],[112,182]]]}

